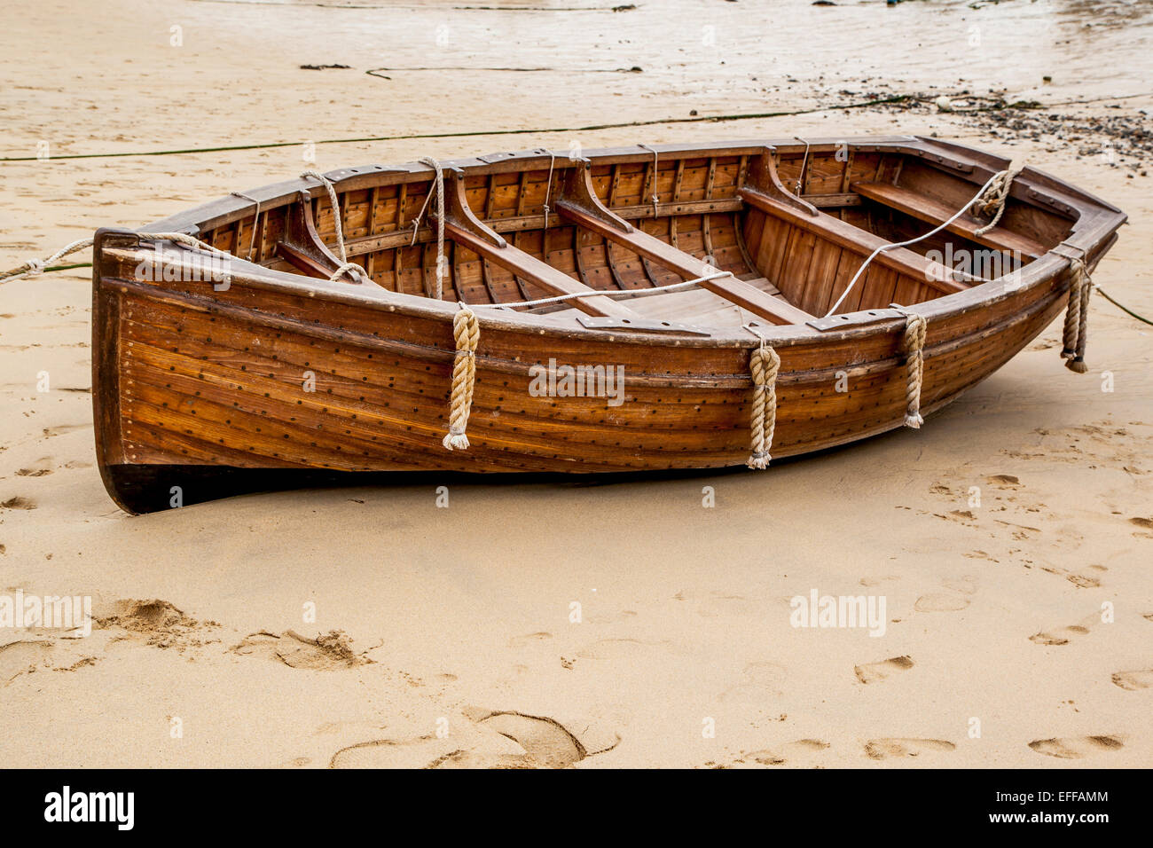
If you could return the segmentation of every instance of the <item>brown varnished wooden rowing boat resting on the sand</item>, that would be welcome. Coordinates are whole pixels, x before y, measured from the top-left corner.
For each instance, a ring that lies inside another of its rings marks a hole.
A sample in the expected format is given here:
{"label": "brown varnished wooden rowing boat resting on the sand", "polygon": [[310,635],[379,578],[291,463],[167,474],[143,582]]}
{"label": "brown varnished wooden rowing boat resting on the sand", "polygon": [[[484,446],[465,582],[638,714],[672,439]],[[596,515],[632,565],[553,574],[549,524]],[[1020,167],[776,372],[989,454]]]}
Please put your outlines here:
{"label": "brown varnished wooden rowing boat resting on the sand", "polygon": [[[763,466],[915,423],[1070,303],[1076,347],[1082,280],[1125,220],[1008,167],[913,136],[533,150],[100,230],[105,485],[145,512],[278,475]],[[987,183],[995,222],[963,211]]]}

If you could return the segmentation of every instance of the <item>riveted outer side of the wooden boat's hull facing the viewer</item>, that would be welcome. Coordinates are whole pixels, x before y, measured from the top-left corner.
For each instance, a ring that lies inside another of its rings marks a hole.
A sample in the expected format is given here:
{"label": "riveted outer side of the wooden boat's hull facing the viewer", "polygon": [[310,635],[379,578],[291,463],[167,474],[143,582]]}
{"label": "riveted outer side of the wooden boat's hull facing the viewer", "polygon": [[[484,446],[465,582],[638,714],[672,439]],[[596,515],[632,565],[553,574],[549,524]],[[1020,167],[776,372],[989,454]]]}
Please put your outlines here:
{"label": "riveted outer side of the wooden boat's hull facing the viewer", "polygon": [[[1091,264],[1106,247],[1101,239]],[[98,452],[110,494],[128,511],[378,473],[636,473],[749,456],[756,342],[747,330],[590,330],[477,310],[470,445],[447,450],[455,305],[258,268],[227,285],[152,282],[141,279],[142,250],[135,234],[100,231],[93,269]],[[1063,309],[1069,263],[1047,256],[1025,270],[980,297],[957,295],[959,306],[925,305],[926,414],[993,374]],[[846,323],[766,330],[781,358],[774,459],[902,426],[904,318]],[[576,373],[587,384],[568,381]]]}

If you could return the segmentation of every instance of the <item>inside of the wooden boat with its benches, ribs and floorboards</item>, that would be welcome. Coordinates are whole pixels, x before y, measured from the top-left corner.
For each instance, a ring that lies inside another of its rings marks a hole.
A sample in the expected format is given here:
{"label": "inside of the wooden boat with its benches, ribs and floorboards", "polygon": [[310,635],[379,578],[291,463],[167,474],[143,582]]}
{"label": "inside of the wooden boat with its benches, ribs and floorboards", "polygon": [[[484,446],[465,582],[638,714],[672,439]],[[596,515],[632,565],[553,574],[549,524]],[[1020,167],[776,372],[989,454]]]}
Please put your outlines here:
{"label": "inside of the wooden boat with its benches, ribs and floorboards", "polygon": [[[541,160],[549,165],[548,158]],[[454,212],[446,207],[447,217],[460,232],[450,227],[446,233],[443,299],[470,306],[507,303],[559,324],[571,324],[582,313],[717,329],[766,318],[805,323],[834,305],[874,243],[924,232],[926,223],[959,202],[954,196],[972,190],[964,180],[949,182],[925,163],[886,151],[853,151],[845,160],[828,151],[811,160],[800,152],[777,160],[763,149],[737,149],[715,156],[559,163],[556,157],[556,167],[445,172],[450,207],[455,203]],[[339,193],[348,258],[363,265],[376,285],[417,297],[435,292],[434,186],[434,180],[416,179]],[[934,200],[933,193],[942,190],[949,198]],[[576,211],[591,210],[587,219],[563,208],[576,195],[583,198]],[[324,192],[302,197],[303,203],[257,211],[206,235],[221,249],[251,253],[267,268],[325,277],[339,263],[333,256],[333,207]],[[815,215],[811,220],[805,220],[806,208]],[[294,216],[303,216],[304,223],[294,223]],[[624,226],[634,227],[638,237],[621,238],[611,226],[605,232],[605,220],[627,222]],[[963,218],[950,227],[950,240],[960,247],[1017,250],[1019,262],[1027,263],[1043,253],[1042,241],[1060,239],[1068,227],[1035,209],[1010,208],[1010,220],[1012,230],[1003,224],[975,237],[980,222]],[[500,250],[484,249],[502,240]],[[664,249],[654,253],[656,241]],[[294,249],[303,246],[308,253],[310,245],[311,258]],[[914,305],[969,287],[972,279],[934,282],[926,273],[925,252],[941,245],[942,237],[936,237],[925,241],[919,254],[880,257],[839,312],[892,301]],[[732,286],[648,297],[649,290],[709,269],[731,273]],[[517,306],[573,292],[631,295]]]}

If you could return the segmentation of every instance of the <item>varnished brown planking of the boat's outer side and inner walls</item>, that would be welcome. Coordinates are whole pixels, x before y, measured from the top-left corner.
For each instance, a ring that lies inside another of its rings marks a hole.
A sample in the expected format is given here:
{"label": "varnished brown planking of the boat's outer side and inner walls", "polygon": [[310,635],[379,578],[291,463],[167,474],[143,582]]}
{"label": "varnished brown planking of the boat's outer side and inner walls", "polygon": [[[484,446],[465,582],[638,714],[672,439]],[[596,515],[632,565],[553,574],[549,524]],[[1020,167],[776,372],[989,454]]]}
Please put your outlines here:
{"label": "varnished brown planking of the boat's outer side and inner walls", "polygon": [[[924,190],[944,202],[962,190],[975,190],[973,181],[985,179],[979,170],[971,174],[950,171],[948,163],[932,158],[943,150],[944,158],[964,159],[964,149],[956,149],[962,151],[957,153],[919,140],[886,143],[895,147],[879,151],[851,145],[847,162],[834,156],[832,143],[814,144],[805,193],[843,195],[860,180]],[[929,158],[903,152],[918,145],[930,151]],[[779,144],[777,150],[781,179],[791,189],[804,145]],[[823,314],[868,253],[866,242],[854,248],[845,242],[852,241],[845,233],[827,238],[823,219],[822,226],[809,226],[796,212],[782,219],[741,203],[737,190],[756,158],[755,149],[739,153],[718,149],[707,155],[662,149],[654,171],[647,151],[613,152],[593,157],[590,177],[595,194],[643,232],[694,260],[708,255],[737,277],[767,277],[766,285],[778,284],[796,306]],[[541,232],[545,194],[553,204],[562,172],[572,165],[557,158],[549,187],[549,160],[543,159],[544,167],[540,157],[530,162],[519,170],[512,163],[466,165],[468,207],[483,220],[505,226],[506,238],[526,254],[590,287],[648,287],[680,278],[645,263],[625,246],[562,223],[556,215],[550,216],[545,238]],[[977,163],[972,167],[989,167],[988,159],[972,162]],[[417,295],[416,301],[431,286],[436,260],[435,232],[428,222],[415,233],[416,243],[409,243],[412,220],[428,195],[427,174],[416,170],[406,179],[380,172],[375,182],[356,178],[352,188],[338,183],[346,237],[383,245],[357,254],[371,278],[390,292]],[[1045,207],[1034,195],[1026,196],[1028,179],[1041,195],[1055,193],[1056,200]],[[327,196],[315,183],[309,190],[318,237],[332,249],[334,219]],[[654,193],[661,204],[656,216]],[[1061,211],[1061,204],[1070,201],[1080,204],[1077,213]],[[248,215],[234,215],[214,228],[202,230],[201,238],[241,256],[251,243],[255,260],[284,268],[273,258],[273,249],[286,232],[286,204],[292,202],[291,195],[266,202],[258,218],[249,208]],[[706,208],[714,202],[734,205]],[[914,226],[899,212],[875,204],[872,211],[859,205],[830,211],[837,222],[889,238]],[[526,216],[536,216],[535,223]],[[1080,223],[1076,223],[1078,216]],[[1015,188],[1003,220],[1013,232],[1047,247],[1080,238],[1095,261],[1123,216],[1064,183],[1028,177]],[[925,249],[939,243],[929,240]],[[467,247],[449,243],[446,255],[446,300],[507,302],[543,293],[518,279],[514,270],[497,267]],[[284,467],[288,463],[325,468],[604,471],[731,465],[747,453],[747,357],[755,340],[740,340],[732,331],[714,330],[715,343],[707,338],[642,342],[638,337],[632,344],[610,342],[609,333],[579,331],[575,324],[514,328],[507,322],[515,323],[518,313],[500,313],[497,324],[482,314],[469,425],[475,450],[458,456],[439,446],[452,363],[451,312],[434,316],[407,308],[383,310],[337,302],[321,292],[289,294],[244,283],[225,292],[180,282],[151,287],[135,284],[134,294],[118,294],[116,279],[127,279],[130,269],[99,260],[96,265],[93,306],[99,316],[120,316],[104,329],[95,328],[93,335],[101,351],[95,378],[116,392],[95,399],[97,408],[108,413],[100,419],[98,434],[101,472],[110,460],[173,466]],[[1042,277],[1026,265],[1032,275],[1028,285],[1005,298],[981,301],[972,290],[948,299],[965,306],[937,309],[934,315],[940,317],[930,318],[922,406],[930,410],[948,402],[1027,344],[1061,309],[1068,285],[1064,269],[1064,264],[1050,263],[1045,271],[1048,276]],[[890,301],[926,303],[941,294],[899,265],[874,263],[839,312],[879,308]],[[668,295],[657,295],[654,303],[661,297]],[[882,321],[852,332],[790,333],[778,345],[783,365],[774,456],[816,450],[899,426],[902,328],[899,321]],[[255,337],[265,340],[262,350],[250,344]],[[111,347],[110,338],[114,339]],[[135,357],[126,340],[141,345]],[[527,368],[549,359],[624,365],[626,403],[610,407],[603,398],[532,398],[526,392]],[[324,366],[309,368],[316,361]],[[175,370],[168,370],[174,366]],[[110,369],[119,373],[119,383],[108,378]],[[291,376],[302,369],[316,370],[324,397],[296,403],[300,398],[292,392],[299,395],[299,389]],[[849,392],[837,392],[834,385],[843,369],[852,375]],[[206,385],[211,385],[208,393]],[[317,426],[323,436],[309,438]],[[269,433],[276,437],[266,437]],[[390,438],[387,444],[382,441]],[[126,450],[134,453],[126,456]],[[115,476],[105,473],[110,490],[116,486]]]}

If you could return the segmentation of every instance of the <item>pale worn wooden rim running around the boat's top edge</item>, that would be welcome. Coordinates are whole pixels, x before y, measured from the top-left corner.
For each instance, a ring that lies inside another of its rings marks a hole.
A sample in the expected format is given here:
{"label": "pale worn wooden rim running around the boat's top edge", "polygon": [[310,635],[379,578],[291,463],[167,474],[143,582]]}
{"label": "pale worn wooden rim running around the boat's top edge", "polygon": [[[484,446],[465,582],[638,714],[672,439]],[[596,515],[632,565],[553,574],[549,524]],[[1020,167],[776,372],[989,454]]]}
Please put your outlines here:
{"label": "pale worn wooden rim running around the boat's top edge", "polygon": [[[654,144],[649,145],[658,153],[675,153],[678,158],[693,158],[694,153],[702,157],[731,155],[731,156],[754,156],[766,151],[782,155],[796,155],[804,151],[806,147],[813,150],[828,152],[842,144],[849,144],[856,150],[891,151],[894,153],[922,155],[930,165],[942,165],[956,151],[969,157],[969,162],[960,163],[954,159],[954,175],[969,179],[974,185],[981,185],[997,170],[1009,166],[1008,159],[1002,159],[996,155],[937,138],[926,138],[922,136],[862,136],[856,138],[812,138],[806,142],[797,138],[792,140],[754,140],[737,142],[713,142],[707,144]],[[602,148],[585,151],[585,159],[593,164],[615,164],[627,162],[651,162],[651,150],[638,149],[636,147]],[[489,159],[492,159],[489,162]],[[508,153],[490,153],[481,157],[468,157],[461,159],[447,159],[442,162],[442,167],[460,168],[466,177],[476,174],[492,174],[502,172],[538,170],[548,167],[550,160],[558,170],[576,167],[582,160],[572,162],[567,156],[559,157],[543,149],[525,150]],[[532,163],[532,164],[530,164]],[[325,175],[333,181],[338,192],[357,190],[372,186],[387,186],[416,180],[427,180],[434,177],[434,170],[421,163],[406,163],[404,165],[386,167],[370,165],[352,168],[338,168],[327,172]],[[363,183],[363,185],[361,185]],[[1039,198],[1045,196],[1038,189],[1045,189],[1049,198],[1049,208]],[[212,230],[225,226],[236,220],[251,216],[254,202],[261,204],[262,210],[277,208],[296,201],[301,192],[307,192],[310,196],[322,196],[325,193],[323,185],[312,179],[297,178],[278,183],[270,183],[261,188],[244,192],[253,200],[238,196],[226,196],[216,201],[210,201],[199,207],[178,212],[168,218],[155,222],[142,228],[142,232],[164,232],[176,230],[197,234],[204,230]],[[1001,277],[986,283],[981,283],[962,292],[944,294],[940,298],[912,305],[917,312],[932,323],[960,316],[973,309],[993,306],[1002,300],[1028,291],[1038,286],[1052,286],[1055,279],[1071,264],[1068,255],[1062,255],[1058,248],[1062,246],[1080,252],[1086,262],[1091,265],[1100,257],[1103,250],[1111,243],[1110,238],[1126,220],[1124,212],[1107,202],[1090,195],[1088,193],[1064,182],[1043,171],[1026,166],[1013,181],[1011,196],[1017,200],[1038,205],[1046,211],[1061,213],[1063,210],[1054,209],[1054,205],[1064,204],[1073,213],[1070,232],[1061,245],[1050,247],[1040,257],[1024,265],[1012,277]],[[103,228],[98,231],[98,245],[103,246],[108,235],[116,237],[120,247],[128,245],[121,237],[131,238],[130,231],[118,228]],[[138,240],[137,240],[138,241]],[[179,248],[179,246],[178,246]],[[176,255],[191,255],[187,248],[179,248]],[[140,258],[148,258],[150,252],[141,250]],[[174,252],[166,252],[165,261],[171,262]],[[127,258],[127,257],[121,257]],[[269,288],[273,291],[286,291],[300,294],[303,288],[308,297],[322,297],[338,302],[361,306],[370,309],[387,309],[389,312],[404,312],[417,317],[431,317],[451,321],[458,307],[450,301],[436,301],[417,294],[406,294],[393,292],[380,286],[352,285],[348,283],[332,283],[316,277],[277,271],[263,265],[250,263],[246,260],[236,258],[232,262],[232,279],[242,285],[256,288]],[[1064,287],[1064,286],[1062,286]],[[877,313],[886,313],[877,317]],[[497,309],[483,307],[477,310],[482,325],[490,325],[495,329],[510,331],[538,331],[544,335],[559,335],[568,338],[602,339],[611,338],[613,343],[646,344],[654,346],[684,346],[684,347],[753,347],[760,344],[763,337],[774,345],[794,345],[822,340],[846,340],[856,339],[875,332],[892,332],[902,327],[905,318],[894,313],[891,309],[860,309],[852,313],[838,314],[843,317],[845,327],[816,330],[807,324],[769,324],[758,322],[758,331],[745,328],[710,328],[708,336],[677,336],[675,333],[653,333],[642,330],[619,329],[589,329],[580,325],[559,325],[550,320],[548,315],[533,313],[513,312],[508,309]]]}

